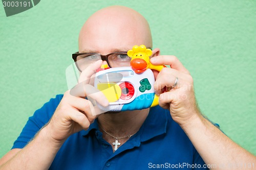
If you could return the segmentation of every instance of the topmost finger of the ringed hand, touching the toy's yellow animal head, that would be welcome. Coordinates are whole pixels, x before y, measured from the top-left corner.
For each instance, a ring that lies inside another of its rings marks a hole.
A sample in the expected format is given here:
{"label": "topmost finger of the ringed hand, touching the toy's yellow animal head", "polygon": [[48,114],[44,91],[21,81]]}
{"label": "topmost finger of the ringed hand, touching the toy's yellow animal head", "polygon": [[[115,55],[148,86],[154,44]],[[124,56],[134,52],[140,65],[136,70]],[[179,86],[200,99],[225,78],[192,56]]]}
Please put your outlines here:
{"label": "topmost finger of the ringed hand, touching the toy's yellow animal head", "polygon": [[189,74],[189,71],[182,65],[176,56],[156,56],[152,57],[150,61],[154,65],[170,65],[170,68]]}

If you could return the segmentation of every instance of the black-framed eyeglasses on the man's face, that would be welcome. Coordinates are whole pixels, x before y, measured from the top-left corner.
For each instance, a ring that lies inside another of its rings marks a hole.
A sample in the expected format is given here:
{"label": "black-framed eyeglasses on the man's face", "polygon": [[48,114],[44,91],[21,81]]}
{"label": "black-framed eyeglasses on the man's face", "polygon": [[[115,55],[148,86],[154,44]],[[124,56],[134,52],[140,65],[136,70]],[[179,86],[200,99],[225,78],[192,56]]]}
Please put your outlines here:
{"label": "black-framed eyeglasses on the man's face", "polygon": [[114,52],[107,55],[101,55],[99,53],[74,53],[72,58],[76,63],[76,67],[79,71],[86,69],[91,63],[103,60],[108,63],[110,67],[124,67],[130,66],[131,57],[127,55],[127,51]]}

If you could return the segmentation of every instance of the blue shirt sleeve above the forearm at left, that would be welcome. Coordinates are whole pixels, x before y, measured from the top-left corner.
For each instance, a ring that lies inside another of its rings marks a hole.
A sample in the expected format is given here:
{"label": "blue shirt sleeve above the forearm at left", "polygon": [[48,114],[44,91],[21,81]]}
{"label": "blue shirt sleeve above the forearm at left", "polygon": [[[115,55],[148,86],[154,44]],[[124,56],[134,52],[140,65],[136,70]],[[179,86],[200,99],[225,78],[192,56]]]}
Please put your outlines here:
{"label": "blue shirt sleeve above the forearm at left", "polygon": [[22,149],[31,139],[33,139],[35,134],[49,122],[62,97],[62,94],[56,95],[54,99],[50,99],[50,101],[45,103],[44,106],[36,110],[33,116],[29,117],[22,132],[14,141],[12,149]]}

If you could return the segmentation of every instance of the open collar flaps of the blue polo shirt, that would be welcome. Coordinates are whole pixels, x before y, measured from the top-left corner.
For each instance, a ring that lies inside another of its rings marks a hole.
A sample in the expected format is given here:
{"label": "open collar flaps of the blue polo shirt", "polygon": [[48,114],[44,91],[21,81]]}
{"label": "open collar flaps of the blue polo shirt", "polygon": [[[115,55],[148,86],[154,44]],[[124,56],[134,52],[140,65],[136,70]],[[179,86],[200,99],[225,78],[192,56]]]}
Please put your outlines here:
{"label": "open collar flaps of the blue polo shirt", "polygon": [[[161,108],[160,106],[151,108],[145,122],[139,130],[139,133],[141,133],[140,141],[146,141],[155,136],[166,133],[167,114],[167,110]],[[82,136],[87,136],[90,131],[98,129],[98,122],[96,119],[88,130],[82,130],[80,133]]]}

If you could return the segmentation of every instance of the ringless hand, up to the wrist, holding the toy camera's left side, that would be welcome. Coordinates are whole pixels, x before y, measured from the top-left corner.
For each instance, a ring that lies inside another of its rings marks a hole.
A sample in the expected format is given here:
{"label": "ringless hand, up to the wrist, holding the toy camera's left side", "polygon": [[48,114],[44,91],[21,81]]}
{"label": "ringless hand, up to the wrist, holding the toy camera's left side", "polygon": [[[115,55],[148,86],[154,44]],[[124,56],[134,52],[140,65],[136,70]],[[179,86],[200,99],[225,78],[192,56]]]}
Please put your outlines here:
{"label": "ringless hand, up to the wrist, holding the toy camera's left side", "polygon": [[[83,70],[79,77],[79,84],[63,95],[51,120],[45,127],[53,142],[62,143],[73,133],[82,129],[88,130],[94,122],[97,116],[93,114],[95,110],[92,103],[85,99],[87,94],[90,93],[86,86],[91,86],[89,85],[90,79],[101,64],[102,60],[99,60]],[[103,93],[100,92],[96,95],[99,104],[108,106],[109,102]]]}

